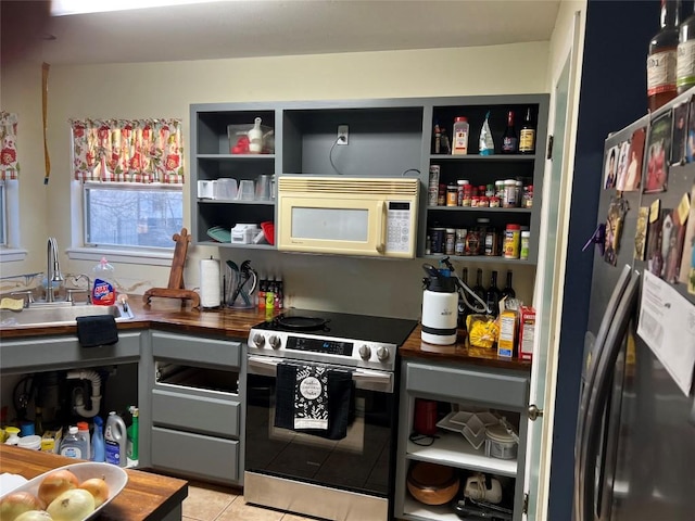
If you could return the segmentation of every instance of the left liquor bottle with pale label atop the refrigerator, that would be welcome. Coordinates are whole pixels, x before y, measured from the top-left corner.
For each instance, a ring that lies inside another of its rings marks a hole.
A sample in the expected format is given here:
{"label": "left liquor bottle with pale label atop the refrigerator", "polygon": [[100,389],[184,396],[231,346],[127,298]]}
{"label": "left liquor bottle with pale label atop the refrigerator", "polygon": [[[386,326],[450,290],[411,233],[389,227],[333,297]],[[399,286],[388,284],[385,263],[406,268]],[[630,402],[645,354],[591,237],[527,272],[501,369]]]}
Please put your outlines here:
{"label": "left liquor bottle with pale label atop the refrigerator", "polygon": [[675,98],[675,64],[681,0],[661,0],[660,29],[649,41],[647,101],[649,111]]}

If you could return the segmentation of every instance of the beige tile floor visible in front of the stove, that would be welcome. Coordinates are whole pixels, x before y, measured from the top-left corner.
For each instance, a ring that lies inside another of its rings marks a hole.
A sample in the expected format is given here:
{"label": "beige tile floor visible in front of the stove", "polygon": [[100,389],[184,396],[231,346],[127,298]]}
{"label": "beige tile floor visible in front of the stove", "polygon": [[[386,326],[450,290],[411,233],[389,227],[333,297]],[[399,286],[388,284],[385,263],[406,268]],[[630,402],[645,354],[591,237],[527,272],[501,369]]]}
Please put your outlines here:
{"label": "beige tile floor visible in front of the stove", "polygon": [[184,521],[313,521],[313,518],[248,505],[239,488],[189,481]]}

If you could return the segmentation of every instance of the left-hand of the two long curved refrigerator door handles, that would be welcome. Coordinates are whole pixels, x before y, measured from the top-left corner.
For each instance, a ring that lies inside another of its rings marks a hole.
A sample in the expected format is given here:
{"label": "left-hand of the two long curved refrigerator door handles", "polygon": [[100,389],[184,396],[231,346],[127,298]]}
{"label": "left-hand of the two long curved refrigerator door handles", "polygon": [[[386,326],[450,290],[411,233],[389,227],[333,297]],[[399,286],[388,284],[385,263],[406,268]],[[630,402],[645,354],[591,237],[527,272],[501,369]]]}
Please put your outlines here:
{"label": "left-hand of the two long curved refrigerator door handles", "polygon": [[617,313],[618,305],[620,304],[620,300],[626,291],[630,282],[630,276],[632,274],[632,268],[629,265],[626,265],[620,272],[620,277],[618,278],[618,282],[612,290],[612,294],[610,295],[610,300],[608,301],[608,305],[606,306],[606,314],[601,321],[601,326],[598,328],[598,332],[596,333],[596,342],[594,344],[591,366],[589,368],[589,378],[586,380],[586,384],[582,392],[581,403],[580,403],[580,417],[577,425],[577,437],[576,437],[576,449],[574,449],[574,519],[577,521],[584,520],[583,512],[583,496],[584,496],[584,486],[585,483],[583,481],[583,476],[585,475],[584,471],[584,453],[585,453],[585,444],[584,440],[584,424],[585,418],[589,408],[591,407],[590,398],[591,391],[594,387],[594,382],[596,380],[596,369],[599,365],[601,358],[604,356],[604,343],[606,341],[606,335],[608,334],[608,330],[614,321],[614,317]]}

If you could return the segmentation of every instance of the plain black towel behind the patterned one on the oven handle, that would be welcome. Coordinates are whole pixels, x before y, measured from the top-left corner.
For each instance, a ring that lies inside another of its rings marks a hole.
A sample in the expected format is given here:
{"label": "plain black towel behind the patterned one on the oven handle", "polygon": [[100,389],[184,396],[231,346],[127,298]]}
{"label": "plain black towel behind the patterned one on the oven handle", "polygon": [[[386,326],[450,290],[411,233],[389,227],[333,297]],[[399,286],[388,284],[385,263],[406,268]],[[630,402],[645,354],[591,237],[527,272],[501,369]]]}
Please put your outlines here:
{"label": "plain black towel behind the patterned one on the oven handle", "polygon": [[275,427],[313,434],[328,440],[342,440],[355,416],[355,393],[352,372],[327,369],[326,429],[302,429],[295,427],[295,390],[298,373],[304,368],[298,364],[278,364],[276,381]]}

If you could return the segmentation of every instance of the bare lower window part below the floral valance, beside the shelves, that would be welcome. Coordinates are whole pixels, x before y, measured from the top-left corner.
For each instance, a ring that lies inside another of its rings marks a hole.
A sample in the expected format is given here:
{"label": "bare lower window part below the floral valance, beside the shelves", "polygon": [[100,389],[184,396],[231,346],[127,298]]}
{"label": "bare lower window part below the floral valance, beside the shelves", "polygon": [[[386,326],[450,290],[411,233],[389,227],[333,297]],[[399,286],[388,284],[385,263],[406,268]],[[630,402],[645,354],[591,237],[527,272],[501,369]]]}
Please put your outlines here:
{"label": "bare lower window part below the floral valance, beside the shelves", "polygon": [[85,245],[174,247],[184,226],[180,185],[86,182]]}

